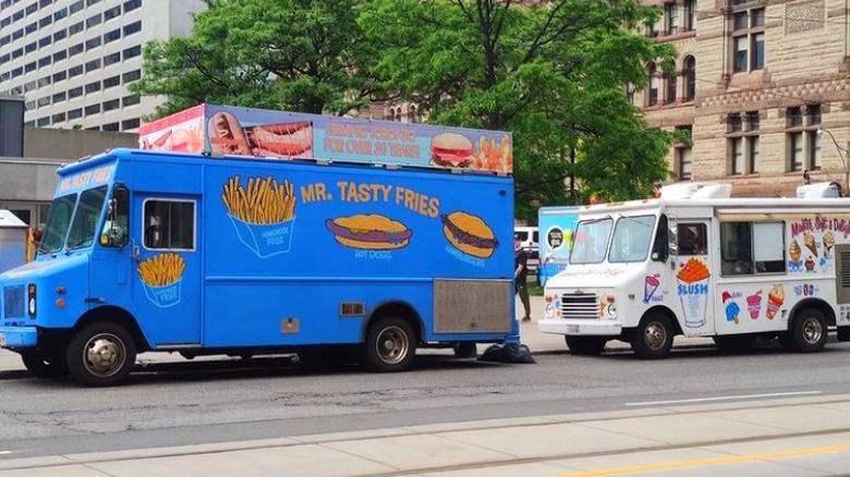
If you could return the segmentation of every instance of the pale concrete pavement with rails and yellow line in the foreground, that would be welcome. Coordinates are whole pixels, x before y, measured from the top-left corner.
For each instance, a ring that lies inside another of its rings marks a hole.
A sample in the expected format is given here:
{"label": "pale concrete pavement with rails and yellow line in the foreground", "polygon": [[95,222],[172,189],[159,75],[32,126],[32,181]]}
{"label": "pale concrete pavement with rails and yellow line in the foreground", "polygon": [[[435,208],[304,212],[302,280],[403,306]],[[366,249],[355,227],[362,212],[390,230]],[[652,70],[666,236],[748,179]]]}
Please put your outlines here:
{"label": "pale concrete pavement with rails and yellow line in the foreground", "polygon": [[10,458],[0,476],[837,475],[849,441],[842,395]]}

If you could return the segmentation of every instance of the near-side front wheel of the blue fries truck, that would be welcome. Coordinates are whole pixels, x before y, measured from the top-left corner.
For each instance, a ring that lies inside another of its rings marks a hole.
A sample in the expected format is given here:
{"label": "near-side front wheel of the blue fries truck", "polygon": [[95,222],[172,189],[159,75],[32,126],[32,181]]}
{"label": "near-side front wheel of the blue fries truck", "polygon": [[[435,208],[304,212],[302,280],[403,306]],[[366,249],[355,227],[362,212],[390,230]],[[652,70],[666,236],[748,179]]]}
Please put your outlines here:
{"label": "near-side front wheel of the blue fries truck", "polygon": [[136,362],[133,337],[120,325],[95,322],[77,331],[68,344],[71,376],[88,387],[121,383]]}

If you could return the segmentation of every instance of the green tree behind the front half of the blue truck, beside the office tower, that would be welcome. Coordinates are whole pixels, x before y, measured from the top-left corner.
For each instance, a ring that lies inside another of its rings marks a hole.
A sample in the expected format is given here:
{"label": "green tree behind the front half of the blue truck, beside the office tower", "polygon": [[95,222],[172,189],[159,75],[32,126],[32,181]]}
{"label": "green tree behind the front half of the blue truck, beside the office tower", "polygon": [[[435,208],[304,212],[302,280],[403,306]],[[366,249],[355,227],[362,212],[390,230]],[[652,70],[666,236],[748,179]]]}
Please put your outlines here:
{"label": "green tree behind the front half of the blue truck, beside the office tower", "polygon": [[131,88],[167,102],[155,118],[210,102],[341,114],[378,95],[378,58],[356,24],[365,0],[205,0],[187,37],[144,48]]}

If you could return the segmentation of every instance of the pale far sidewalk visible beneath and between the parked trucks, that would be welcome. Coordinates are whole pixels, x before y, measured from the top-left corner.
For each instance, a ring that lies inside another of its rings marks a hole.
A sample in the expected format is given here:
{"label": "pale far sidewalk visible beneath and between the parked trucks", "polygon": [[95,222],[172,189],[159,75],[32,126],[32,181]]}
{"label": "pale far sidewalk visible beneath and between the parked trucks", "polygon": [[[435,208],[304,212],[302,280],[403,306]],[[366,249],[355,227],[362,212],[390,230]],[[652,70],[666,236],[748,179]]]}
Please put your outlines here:
{"label": "pale far sidewalk visible beneath and between the parked trucks", "polygon": [[[522,305],[518,303],[518,314],[522,315]],[[542,296],[532,296],[532,321],[522,322],[520,327],[520,338],[522,343],[529,346],[532,354],[557,354],[569,353],[567,344],[563,341],[562,335],[558,334],[543,334],[537,331],[537,319],[543,316],[545,304]],[[675,347],[694,347],[694,346],[713,346],[714,341],[711,338],[684,338],[676,337],[673,341]],[[487,345],[478,345],[478,352],[486,350]],[[628,343],[621,341],[609,341],[605,347],[606,350],[631,350]],[[195,360],[204,359],[222,359],[222,356],[198,356]],[[143,353],[138,355],[138,363],[174,363],[185,362],[178,353]],[[10,351],[0,350],[0,371],[11,370],[25,370],[24,365],[21,363],[21,357]]]}

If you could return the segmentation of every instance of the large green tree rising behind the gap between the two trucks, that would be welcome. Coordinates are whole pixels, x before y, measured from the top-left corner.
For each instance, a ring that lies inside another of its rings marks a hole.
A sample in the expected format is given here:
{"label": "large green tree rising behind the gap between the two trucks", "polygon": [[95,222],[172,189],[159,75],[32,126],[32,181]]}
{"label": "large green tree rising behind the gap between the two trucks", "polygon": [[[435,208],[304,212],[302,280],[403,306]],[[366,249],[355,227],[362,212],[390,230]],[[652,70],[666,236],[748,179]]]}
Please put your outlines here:
{"label": "large green tree rising behind the gap between the two trucks", "polygon": [[672,69],[673,48],[638,33],[657,15],[638,0],[375,0],[359,21],[381,52],[375,76],[428,122],[513,133],[517,211],[534,220],[669,176],[672,136],[624,95],[648,62]]}

